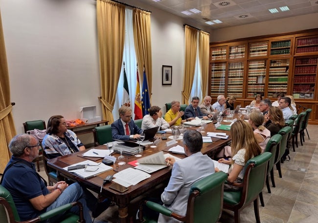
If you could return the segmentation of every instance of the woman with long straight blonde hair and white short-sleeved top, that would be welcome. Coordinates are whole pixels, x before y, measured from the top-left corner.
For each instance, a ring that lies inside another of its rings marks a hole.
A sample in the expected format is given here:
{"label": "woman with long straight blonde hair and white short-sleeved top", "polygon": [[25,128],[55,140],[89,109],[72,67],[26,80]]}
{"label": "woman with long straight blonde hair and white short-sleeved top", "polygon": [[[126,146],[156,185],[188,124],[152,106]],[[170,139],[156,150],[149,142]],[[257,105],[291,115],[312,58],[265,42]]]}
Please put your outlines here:
{"label": "woman with long straight blonde hair and white short-sleeved top", "polygon": [[[231,126],[231,151],[232,160],[228,170],[227,181],[230,183],[242,183],[244,176],[244,166],[249,159],[261,154],[262,149],[255,140],[253,129],[244,120],[238,120]],[[228,163],[228,160],[220,159],[219,162]],[[219,172],[215,168],[215,172]],[[240,188],[231,184],[224,185],[225,191],[239,191]]]}

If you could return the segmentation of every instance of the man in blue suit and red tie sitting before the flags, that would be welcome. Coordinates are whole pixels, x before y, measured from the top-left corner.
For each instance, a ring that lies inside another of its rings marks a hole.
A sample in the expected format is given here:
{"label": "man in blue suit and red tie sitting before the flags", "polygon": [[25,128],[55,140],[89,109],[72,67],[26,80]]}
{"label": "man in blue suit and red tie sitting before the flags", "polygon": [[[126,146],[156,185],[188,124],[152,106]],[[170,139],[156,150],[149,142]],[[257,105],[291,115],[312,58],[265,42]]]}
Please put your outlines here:
{"label": "man in blue suit and red tie sitting before the flags", "polygon": [[142,129],[132,120],[132,109],[125,105],[119,108],[119,119],[112,124],[113,139],[130,140],[138,139]]}

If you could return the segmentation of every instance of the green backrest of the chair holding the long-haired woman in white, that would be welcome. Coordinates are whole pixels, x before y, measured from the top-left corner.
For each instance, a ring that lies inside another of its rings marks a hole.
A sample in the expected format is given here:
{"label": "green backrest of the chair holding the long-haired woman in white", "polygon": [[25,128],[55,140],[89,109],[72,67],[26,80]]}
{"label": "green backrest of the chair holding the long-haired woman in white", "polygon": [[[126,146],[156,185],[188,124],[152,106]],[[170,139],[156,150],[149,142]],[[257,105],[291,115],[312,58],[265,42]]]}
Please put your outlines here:
{"label": "green backrest of the chair holding the long-haired woman in white", "polygon": [[245,165],[246,171],[243,178],[243,192],[240,203],[250,203],[258,198],[262,192],[268,170],[268,161],[272,153],[263,152],[262,154],[251,158]]}

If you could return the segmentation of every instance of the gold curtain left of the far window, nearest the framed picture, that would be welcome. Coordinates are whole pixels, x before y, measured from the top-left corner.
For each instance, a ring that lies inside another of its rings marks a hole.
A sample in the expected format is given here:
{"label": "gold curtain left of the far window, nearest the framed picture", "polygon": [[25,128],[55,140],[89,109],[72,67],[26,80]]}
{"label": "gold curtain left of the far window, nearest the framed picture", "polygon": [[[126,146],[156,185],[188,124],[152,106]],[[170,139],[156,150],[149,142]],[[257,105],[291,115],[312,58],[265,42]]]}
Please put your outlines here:
{"label": "gold curtain left of the far window, nearest the framed picture", "polygon": [[185,56],[184,56],[184,78],[182,89],[182,104],[188,104],[193,84],[195,62],[197,55],[197,29],[188,25],[184,27]]}

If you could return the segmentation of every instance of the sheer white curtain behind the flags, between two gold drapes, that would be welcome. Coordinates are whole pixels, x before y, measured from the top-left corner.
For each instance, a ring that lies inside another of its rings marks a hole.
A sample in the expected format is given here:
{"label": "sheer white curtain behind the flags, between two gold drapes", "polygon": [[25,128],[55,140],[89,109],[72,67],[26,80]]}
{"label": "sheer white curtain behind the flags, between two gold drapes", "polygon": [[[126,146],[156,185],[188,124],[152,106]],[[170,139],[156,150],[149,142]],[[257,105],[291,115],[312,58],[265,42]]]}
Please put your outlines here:
{"label": "sheer white curtain behind the flags, between two gold drapes", "polygon": [[[124,44],[124,56],[123,63],[125,62],[125,69],[129,88],[130,106],[132,108],[132,115],[134,116],[135,107],[135,93],[136,93],[136,53],[134,45],[134,33],[133,33],[133,10],[126,8],[125,18],[125,44]],[[116,100],[114,104],[113,116],[114,120],[119,119],[118,109],[121,107],[121,101],[123,98],[123,82],[124,82],[124,65],[122,64],[120,77],[118,81]],[[134,118],[134,117],[133,117]]]}

